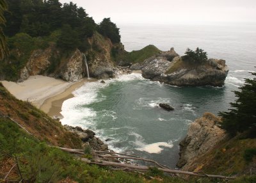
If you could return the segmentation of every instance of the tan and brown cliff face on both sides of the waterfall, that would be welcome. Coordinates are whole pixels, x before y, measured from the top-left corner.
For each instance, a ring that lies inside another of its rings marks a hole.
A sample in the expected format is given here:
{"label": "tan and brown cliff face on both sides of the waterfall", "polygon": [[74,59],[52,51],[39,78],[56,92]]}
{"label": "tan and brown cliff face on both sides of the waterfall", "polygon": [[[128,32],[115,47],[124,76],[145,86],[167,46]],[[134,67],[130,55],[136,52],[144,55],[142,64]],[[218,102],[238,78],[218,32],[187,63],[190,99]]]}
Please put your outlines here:
{"label": "tan and brown cliff face on both sides of the waterfall", "polygon": [[[114,63],[111,59],[113,44],[111,40],[95,33],[92,38],[88,39],[88,42],[89,49],[85,54],[90,76],[98,79],[113,77]],[[115,45],[115,47],[120,45]],[[44,50],[37,49],[31,52],[26,66],[20,70],[19,82],[35,75],[58,77],[70,82],[77,81],[86,76],[83,53],[76,49],[67,55],[58,50],[54,44]]]}

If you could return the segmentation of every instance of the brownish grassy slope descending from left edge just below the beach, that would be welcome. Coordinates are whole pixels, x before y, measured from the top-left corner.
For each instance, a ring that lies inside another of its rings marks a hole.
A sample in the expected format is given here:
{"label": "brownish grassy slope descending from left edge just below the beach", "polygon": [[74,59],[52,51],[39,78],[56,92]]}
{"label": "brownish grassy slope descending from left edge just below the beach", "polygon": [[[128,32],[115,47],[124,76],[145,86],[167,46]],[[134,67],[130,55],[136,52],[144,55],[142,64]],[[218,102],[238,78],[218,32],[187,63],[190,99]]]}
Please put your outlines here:
{"label": "brownish grassy slope descending from left edge just below the beach", "polygon": [[68,132],[60,122],[52,120],[29,102],[13,97],[1,83],[0,111],[2,115],[10,116],[40,140],[60,147],[81,147],[81,140],[78,136]]}

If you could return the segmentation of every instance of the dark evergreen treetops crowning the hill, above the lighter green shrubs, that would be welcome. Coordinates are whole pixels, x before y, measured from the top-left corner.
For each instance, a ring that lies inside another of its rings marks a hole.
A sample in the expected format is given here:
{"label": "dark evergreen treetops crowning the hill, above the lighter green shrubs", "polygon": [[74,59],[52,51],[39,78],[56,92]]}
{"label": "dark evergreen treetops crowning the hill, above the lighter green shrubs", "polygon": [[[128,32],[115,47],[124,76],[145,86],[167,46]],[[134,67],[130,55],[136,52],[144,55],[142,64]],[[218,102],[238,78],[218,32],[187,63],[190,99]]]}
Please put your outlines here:
{"label": "dark evergreen treetops crowning the hill, above the lighter green shrubs", "polygon": [[120,42],[119,29],[109,18],[97,25],[84,8],[72,2],[61,4],[59,0],[8,0],[8,6],[4,28],[8,37],[17,33],[45,37],[59,31],[58,47],[85,51],[87,38],[98,29],[112,42]]}

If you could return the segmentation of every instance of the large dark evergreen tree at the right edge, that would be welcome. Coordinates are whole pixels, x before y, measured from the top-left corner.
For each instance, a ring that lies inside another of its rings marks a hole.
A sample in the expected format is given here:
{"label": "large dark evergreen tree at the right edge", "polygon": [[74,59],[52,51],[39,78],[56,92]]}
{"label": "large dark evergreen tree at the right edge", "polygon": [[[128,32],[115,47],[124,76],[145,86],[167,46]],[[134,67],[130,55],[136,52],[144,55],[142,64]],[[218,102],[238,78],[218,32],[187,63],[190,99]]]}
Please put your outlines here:
{"label": "large dark evergreen tree at the right edge", "polygon": [[[256,76],[256,72],[252,73]],[[220,112],[223,118],[221,127],[232,136],[237,132],[249,130],[256,134],[256,77],[245,79],[244,86],[239,88],[241,91],[235,91],[237,100],[230,103],[232,109],[229,112]]]}

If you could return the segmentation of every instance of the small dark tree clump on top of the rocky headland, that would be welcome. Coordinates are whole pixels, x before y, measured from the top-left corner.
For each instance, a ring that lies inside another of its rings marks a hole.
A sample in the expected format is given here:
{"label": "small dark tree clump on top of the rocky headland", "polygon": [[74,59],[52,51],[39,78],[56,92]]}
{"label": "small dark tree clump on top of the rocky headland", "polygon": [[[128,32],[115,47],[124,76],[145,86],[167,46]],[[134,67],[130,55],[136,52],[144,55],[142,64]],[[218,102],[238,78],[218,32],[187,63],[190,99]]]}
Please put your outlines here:
{"label": "small dark tree clump on top of the rocky headland", "polygon": [[207,52],[204,52],[203,49],[199,49],[198,47],[195,51],[188,48],[185,55],[182,56],[182,60],[193,63],[204,63],[207,59]]}

